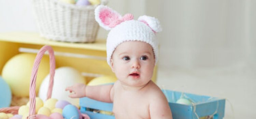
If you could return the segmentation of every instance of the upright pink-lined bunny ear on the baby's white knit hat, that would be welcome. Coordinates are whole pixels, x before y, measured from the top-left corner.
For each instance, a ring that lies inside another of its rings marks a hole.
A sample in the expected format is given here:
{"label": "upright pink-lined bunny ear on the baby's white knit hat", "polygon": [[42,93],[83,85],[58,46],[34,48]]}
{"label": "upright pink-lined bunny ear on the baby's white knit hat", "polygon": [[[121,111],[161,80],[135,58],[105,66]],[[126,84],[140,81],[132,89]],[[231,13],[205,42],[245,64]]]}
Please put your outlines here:
{"label": "upright pink-lined bunny ear on the baby's white knit hat", "polygon": [[101,27],[111,30],[111,23],[118,20],[122,16],[108,6],[99,5],[95,9],[95,19]]}

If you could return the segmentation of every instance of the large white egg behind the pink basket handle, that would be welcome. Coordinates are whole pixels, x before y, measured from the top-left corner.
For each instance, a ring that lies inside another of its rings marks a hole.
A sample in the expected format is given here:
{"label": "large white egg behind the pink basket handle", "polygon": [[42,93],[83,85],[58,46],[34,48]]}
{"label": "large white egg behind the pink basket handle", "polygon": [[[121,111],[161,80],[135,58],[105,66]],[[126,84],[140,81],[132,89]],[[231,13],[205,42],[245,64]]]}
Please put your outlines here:
{"label": "large white egg behind the pink basket handle", "polygon": [[[55,70],[54,86],[52,90],[52,98],[58,100],[66,100],[73,105],[79,105],[79,98],[70,98],[70,92],[65,91],[66,87],[77,83],[86,84],[86,80],[79,71],[71,67],[60,67]],[[49,75],[44,79],[39,90],[39,97],[46,99],[47,89],[49,85]]]}

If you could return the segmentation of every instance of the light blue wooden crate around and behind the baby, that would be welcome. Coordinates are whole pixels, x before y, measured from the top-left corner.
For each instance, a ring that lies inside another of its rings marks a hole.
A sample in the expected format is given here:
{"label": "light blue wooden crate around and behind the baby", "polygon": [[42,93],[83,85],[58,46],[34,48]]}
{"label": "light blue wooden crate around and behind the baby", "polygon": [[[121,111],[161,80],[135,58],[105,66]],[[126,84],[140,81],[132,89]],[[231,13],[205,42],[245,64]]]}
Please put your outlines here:
{"label": "light blue wooden crate around and behind the baby", "polygon": [[[225,99],[219,99],[209,96],[200,96],[195,94],[177,92],[172,90],[162,90],[168,99],[171,107],[173,119],[198,119],[213,115],[213,119],[223,119],[225,111]],[[192,101],[193,105],[175,103],[180,97]],[[104,103],[89,98],[80,99],[81,113],[89,115],[91,119],[115,119],[112,115],[105,115],[87,111],[88,108],[111,112],[112,103]]]}

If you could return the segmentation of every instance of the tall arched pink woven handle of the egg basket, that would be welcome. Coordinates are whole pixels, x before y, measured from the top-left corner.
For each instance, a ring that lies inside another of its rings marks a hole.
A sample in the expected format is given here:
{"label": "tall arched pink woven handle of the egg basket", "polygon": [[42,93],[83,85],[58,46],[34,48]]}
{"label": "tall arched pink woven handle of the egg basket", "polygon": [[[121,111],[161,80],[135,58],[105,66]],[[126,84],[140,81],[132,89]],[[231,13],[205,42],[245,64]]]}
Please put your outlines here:
{"label": "tall arched pink woven handle of the egg basket", "polygon": [[44,55],[44,53],[48,50],[49,57],[50,57],[50,80],[49,80],[49,87],[47,92],[47,99],[51,98],[52,96],[52,90],[53,90],[53,78],[55,74],[55,57],[54,57],[54,51],[51,46],[43,46],[39,52],[37,53],[37,56],[35,57],[32,74],[30,77],[30,88],[29,88],[29,119],[35,119],[35,81],[37,78],[37,72],[38,67],[41,62],[41,59]]}

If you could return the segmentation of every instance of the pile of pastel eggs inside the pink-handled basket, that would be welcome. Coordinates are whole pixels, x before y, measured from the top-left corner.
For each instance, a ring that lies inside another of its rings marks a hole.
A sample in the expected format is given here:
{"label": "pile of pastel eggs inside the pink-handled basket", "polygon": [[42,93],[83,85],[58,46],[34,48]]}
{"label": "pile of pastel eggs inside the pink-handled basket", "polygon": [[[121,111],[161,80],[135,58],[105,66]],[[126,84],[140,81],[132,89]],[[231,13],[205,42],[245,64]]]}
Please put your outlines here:
{"label": "pile of pastel eggs inside the pink-handled basket", "polygon": [[[54,98],[50,98],[43,102],[42,99],[37,97],[35,99],[35,113],[37,119],[82,119],[81,112],[76,106],[68,101],[58,101]],[[20,106],[18,115],[10,115],[12,116],[10,119],[27,119],[28,115],[29,102],[27,105]]]}

